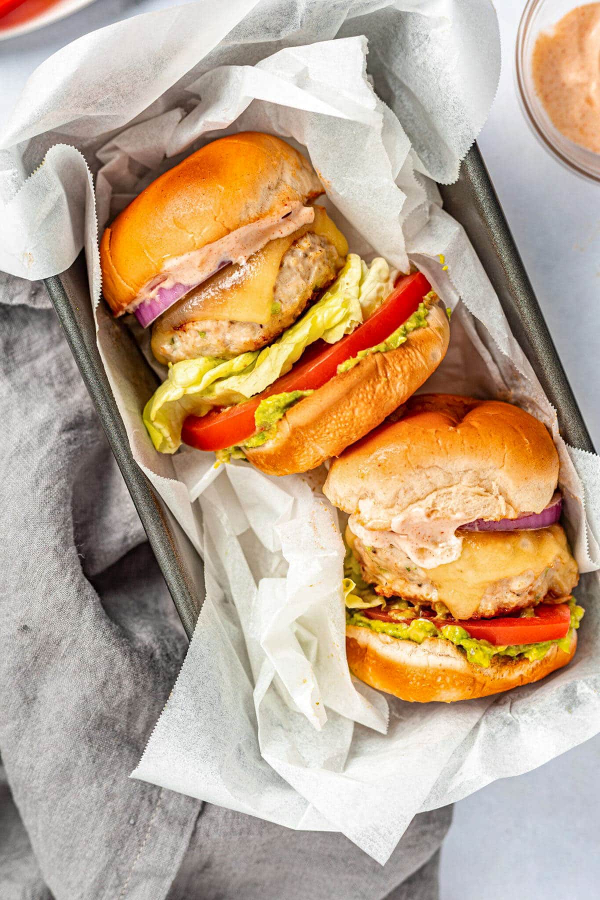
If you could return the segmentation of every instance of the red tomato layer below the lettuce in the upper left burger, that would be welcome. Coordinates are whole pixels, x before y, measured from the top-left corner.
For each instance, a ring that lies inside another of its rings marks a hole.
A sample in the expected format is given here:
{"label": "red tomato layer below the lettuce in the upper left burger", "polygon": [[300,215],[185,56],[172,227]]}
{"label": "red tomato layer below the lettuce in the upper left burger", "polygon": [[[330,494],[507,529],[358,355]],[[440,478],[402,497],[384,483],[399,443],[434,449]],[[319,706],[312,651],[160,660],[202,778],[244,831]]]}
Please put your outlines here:
{"label": "red tomato layer below the lettuce in the upper left burger", "polygon": [[290,372],[263,393],[237,406],[213,410],[206,416],[188,416],[182,429],[184,443],[198,450],[224,450],[243,444],[255,433],[255,410],[260,401],[276,393],[316,391],[333,378],[340,363],[389,338],[418,309],[429,291],[431,285],[420,272],[400,278],[388,299],[363,325],[336,344],[319,340],[307,347]]}

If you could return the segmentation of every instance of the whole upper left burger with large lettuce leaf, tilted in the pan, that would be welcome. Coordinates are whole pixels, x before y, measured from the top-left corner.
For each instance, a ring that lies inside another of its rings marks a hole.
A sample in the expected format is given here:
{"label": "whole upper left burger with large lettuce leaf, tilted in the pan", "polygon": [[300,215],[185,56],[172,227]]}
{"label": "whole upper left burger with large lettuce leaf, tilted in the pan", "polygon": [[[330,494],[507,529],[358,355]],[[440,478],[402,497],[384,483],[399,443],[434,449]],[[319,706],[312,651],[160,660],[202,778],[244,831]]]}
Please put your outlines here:
{"label": "whole upper left burger with large lettuce leaf, tilted in the pan", "polygon": [[443,359],[448,320],[425,276],[348,253],[322,193],[296,149],[240,133],[161,175],[104,230],[104,297],[152,329],[168,366],[144,410],[161,453],[183,441],[305,472]]}

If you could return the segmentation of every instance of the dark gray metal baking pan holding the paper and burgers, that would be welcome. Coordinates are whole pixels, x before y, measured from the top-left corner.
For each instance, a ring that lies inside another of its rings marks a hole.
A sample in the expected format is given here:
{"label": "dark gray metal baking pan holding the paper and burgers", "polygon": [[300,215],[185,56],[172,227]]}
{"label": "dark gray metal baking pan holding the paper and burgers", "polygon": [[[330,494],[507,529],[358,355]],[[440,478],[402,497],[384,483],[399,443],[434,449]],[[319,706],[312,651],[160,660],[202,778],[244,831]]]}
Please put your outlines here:
{"label": "dark gray metal baking pan holding the paper and burgers", "polygon": [[[477,145],[455,184],[440,185],[444,208],[461,222],[502,303],[515,338],[558,411],[560,433],[572,446],[593,451],[591,438],[560,364],[556,347],[524,270]],[[146,529],[188,637],[204,596],[202,564],[183,528],[134,462],[95,341],[83,253],[62,275],[46,280],[50,300],[90,392],[131,498]],[[139,353],[127,329],[115,325],[128,353]],[[124,348],[125,349],[125,348]],[[147,365],[139,354],[139,365]]]}

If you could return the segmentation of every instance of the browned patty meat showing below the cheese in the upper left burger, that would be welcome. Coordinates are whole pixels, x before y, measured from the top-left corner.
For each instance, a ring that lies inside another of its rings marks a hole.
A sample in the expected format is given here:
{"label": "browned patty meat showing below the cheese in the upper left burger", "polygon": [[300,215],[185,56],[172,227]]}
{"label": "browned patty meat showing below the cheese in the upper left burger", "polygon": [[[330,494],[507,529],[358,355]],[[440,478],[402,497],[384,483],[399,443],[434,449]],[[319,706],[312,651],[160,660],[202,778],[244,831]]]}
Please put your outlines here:
{"label": "browned patty meat showing below the cheese in the upper left burger", "polygon": [[[265,325],[227,320],[194,320],[163,329],[158,319],[152,329],[152,352],[161,363],[178,363],[197,356],[233,356],[270,344],[289,328],[344,266],[327,238],[307,232],[282,257],[273,287],[273,312]],[[162,317],[161,317],[162,318]]]}

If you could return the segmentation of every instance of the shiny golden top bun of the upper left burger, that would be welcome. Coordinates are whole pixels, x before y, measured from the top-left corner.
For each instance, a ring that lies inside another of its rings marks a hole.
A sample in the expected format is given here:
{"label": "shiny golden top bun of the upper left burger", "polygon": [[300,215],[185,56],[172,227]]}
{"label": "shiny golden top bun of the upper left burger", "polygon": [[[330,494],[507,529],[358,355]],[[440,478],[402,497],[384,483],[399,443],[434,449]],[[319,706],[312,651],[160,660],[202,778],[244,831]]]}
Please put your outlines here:
{"label": "shiny golden top bun of the upper left burger", "polygon": [[280,138],[246,131],[214,140],[148,184],[104,230],[104,297],[121,313],[169,259],[321,193],[309,161]]}

